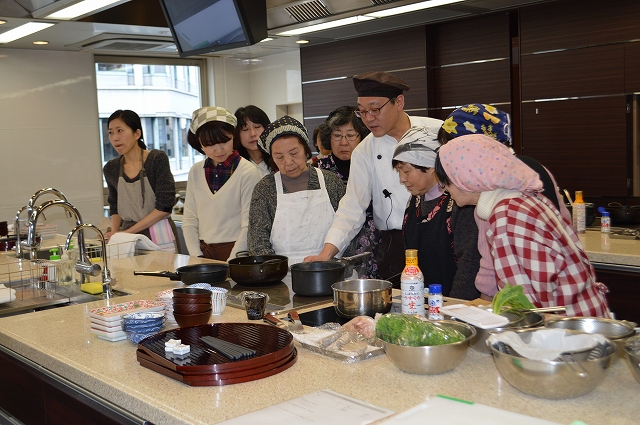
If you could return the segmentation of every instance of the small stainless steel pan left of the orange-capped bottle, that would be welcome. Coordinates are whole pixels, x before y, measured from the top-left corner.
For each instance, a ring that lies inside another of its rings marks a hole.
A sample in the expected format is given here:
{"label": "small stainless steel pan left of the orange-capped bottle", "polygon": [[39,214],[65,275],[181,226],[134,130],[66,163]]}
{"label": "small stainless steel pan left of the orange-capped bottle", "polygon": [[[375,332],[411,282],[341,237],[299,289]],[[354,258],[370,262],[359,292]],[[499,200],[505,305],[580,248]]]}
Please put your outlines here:
{"label": "small stainless steel pan left of the orange-capped bottle", "polygon": [[391,299],[391,282],[380,279],[351,279],[331,285],[333,306],[340,317],[375,316],[388,313]]}

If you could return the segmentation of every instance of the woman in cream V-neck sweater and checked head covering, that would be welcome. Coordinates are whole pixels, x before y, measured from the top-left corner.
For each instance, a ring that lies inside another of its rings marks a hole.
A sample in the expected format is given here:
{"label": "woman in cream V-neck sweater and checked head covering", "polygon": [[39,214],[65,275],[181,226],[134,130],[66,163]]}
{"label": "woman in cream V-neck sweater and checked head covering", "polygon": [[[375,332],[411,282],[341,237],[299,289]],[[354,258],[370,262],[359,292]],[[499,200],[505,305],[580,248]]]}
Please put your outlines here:
{"label": "woman in cream V-neck sweater and checked head covering", "polygon": [[257,168],[233,149],[236,117],[207,106],[193,112],[189,144],[207,155],[191,167],[182,231],[189,255],[227,261],[247,249]]}

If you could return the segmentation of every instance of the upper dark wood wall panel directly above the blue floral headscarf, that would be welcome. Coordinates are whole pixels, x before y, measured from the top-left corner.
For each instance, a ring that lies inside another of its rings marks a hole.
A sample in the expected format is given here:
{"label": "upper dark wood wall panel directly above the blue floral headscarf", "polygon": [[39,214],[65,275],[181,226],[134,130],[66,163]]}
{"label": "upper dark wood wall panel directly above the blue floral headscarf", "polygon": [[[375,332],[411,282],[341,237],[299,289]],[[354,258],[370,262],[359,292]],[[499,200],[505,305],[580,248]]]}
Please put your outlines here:
{"label": "upper dark wood wall panel directly above the blue floral headscarf", "polygon": [[434,66],[509,57],[509,15],[435,25]]}

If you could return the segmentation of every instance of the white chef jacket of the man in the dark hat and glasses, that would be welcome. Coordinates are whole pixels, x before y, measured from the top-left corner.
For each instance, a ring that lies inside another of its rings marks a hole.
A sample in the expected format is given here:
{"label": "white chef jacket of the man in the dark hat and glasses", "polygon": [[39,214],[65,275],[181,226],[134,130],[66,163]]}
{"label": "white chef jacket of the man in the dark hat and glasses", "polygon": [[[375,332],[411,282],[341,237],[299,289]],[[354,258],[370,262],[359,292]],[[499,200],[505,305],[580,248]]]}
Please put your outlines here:
{"label": "white chef jacket of the man in the dark hat and glasses", "polygon": [[[427,127],[438,133],[442,121],[427,117],[409,117],[412,127]],[[391,165],[398,141],[389,136],[364,138],[351,154],[347,193],[327,233],[325,243],[336,246],[342,255],[349,242],[360,231],[366,210],[373,200],[373,222],[378,230],[402,230],[404,210],[411,196],[400,184],[398,172]],[[383,191],[391,195],[385,197]]]}

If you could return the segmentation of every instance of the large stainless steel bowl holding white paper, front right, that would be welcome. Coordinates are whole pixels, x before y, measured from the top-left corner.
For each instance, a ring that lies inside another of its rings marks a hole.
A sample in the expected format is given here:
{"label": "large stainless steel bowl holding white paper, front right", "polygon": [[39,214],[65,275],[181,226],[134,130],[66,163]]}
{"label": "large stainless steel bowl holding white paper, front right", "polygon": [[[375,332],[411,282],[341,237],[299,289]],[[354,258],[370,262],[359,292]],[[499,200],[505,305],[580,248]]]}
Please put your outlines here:
{"label": "large stainless steel bowl holding white paper, front right", "polygon": [[[515,331],[524,342],[529,342],[536,329]],[[504,349],[504,348],[502,348]],[[523,393],[549,399],[579,397],[597,387],[604,379],[617,346],[609,340],[593,360],[531,360],[517,354],[503,352],[498,344],[491,346],[496,367],[504,379]],[[582,358],[582,356],[580,357]]]}

